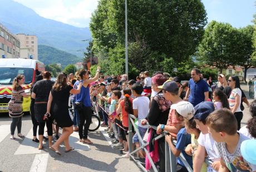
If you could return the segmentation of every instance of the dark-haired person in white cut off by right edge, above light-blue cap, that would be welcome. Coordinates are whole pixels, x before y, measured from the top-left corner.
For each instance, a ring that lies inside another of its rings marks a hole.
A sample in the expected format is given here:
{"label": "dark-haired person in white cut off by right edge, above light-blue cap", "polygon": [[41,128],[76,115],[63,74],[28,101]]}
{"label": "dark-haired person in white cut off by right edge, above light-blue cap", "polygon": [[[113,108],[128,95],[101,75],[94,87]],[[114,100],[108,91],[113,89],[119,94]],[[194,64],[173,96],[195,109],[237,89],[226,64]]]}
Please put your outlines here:
{"label": "dark-haired person in white cut off by right edge, above light-blue cap", "polygon": [[248,136],[250,139],[256,139],[256,100],[250,104],[249,111],[252,118],[248,120],[247,125],[239,130],[239,133]]}

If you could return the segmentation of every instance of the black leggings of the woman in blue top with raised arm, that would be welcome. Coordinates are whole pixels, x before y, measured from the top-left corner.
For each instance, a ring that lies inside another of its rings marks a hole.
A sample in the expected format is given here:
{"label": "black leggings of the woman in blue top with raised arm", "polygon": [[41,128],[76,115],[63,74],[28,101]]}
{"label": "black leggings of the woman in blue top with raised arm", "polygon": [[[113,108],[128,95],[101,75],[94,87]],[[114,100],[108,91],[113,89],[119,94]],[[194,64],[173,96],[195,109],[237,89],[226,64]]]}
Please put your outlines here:
{"label": "black leggings of the woman in blue top with raised arm", "polygon": [[78,110],[78,114],[80,117],[79,137],[80,139],[87,139],[88,129],[92,122],[92,109],[91,107],[83,106],[81,110]]}

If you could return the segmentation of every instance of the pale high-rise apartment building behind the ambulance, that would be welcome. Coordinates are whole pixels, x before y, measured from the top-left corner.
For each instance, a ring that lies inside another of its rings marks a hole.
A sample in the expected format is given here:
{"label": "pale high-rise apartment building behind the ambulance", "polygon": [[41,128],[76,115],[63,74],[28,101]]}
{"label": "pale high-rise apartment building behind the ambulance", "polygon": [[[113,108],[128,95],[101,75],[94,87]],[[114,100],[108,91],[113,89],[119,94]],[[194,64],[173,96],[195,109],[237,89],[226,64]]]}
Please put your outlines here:
{"label": "pale high-rise apartment building behind the ambulance", "polygon": [[26,34],[17,34],[16,36],[21,42],[21,54],[25,56],[28,54],[28,58],[29,58],[29,55],[32,55],[33,59],[37,60],[38,59],[37,36],[30,36]]}

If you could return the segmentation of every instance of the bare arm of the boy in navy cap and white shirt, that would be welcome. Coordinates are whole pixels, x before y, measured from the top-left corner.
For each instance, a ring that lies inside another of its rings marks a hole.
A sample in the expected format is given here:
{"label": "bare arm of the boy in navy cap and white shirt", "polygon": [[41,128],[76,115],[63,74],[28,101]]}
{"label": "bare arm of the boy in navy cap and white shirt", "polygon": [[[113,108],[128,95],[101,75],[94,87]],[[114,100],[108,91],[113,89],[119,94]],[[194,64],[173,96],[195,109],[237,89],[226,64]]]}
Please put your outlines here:
{"label": "bare arm of the boy in navy cap and white shirt", "polygon": [[193,170],[194,172],[200,172],[205,159],[205,147],[198,145],[198,150],[195,152],[195,157],[193,160]]}

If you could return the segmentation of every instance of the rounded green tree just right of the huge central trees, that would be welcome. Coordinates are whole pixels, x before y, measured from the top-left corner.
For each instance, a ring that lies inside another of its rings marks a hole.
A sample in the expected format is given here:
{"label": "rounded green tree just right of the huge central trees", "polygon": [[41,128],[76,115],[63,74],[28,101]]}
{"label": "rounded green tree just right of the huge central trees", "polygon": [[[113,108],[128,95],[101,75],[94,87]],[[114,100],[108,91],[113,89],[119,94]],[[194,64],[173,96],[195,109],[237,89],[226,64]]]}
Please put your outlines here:
{"label": "rounded green tree just right of the huge central trees", "polygon": [[199,45],[198,56],[201,62],[215,66],[222,73],[229,65],[234,66],[239,58],[238,30],[228,23],[212,21],[205,29]]}

